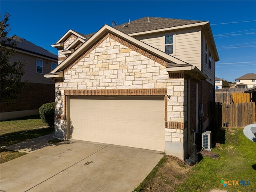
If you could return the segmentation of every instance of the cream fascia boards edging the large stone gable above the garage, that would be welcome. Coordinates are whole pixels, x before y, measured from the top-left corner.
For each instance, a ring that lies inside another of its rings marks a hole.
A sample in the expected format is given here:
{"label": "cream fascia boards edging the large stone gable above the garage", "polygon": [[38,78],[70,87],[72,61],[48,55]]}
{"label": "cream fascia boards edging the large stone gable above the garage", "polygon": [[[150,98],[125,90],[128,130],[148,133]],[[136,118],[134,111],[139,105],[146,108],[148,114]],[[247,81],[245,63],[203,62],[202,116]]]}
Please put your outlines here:
{"label": "cream fascia boards edging the large stone gable above the garage", "polygon": [[175,64],[187,64],[186,62],[179,60],[173,56],[170,56],[152,46],[149,46],[148,44],[137,40],[127,34],[124,34],[123,32],[116,30],[115,28],[110,27],[109,25],[105,24],[102,28],[100,28],[100,30],[98,30],[90,39],[88,39],[82,46],[80,46],[72,55],[70,55],[68,58],[66,58],[61,64],[59,64],[52,72],[57,72],[58,70],[61,70],[62,68],[64,68],[67,64],[69,64],[70,62],[72,62],[73,58],[75,58],[76,56],[78,56],[79,54],[82,53],[82,51],[87,47],[90,46],[90,44],[94,43],[96,40],[98,40],[98,38],[106,33],[107,31],[113,32],[114,34],[117,34],[118,36],[121,36],[122,38],[133,42],[134,44],[148,50],[149,52],[152,52],[162,58],[165,58],[166,60],[170,61],[170,63],[175,63]]}

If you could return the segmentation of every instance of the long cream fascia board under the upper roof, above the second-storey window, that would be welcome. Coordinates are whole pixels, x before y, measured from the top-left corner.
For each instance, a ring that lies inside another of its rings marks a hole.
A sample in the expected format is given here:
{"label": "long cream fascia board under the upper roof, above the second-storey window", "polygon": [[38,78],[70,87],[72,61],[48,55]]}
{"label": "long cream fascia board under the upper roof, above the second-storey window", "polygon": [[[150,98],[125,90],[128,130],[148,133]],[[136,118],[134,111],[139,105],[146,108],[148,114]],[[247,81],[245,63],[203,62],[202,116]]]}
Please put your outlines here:
{"label": "long cream fascia board under the upper roof, above the second-storey window", "polygon": [[184,29],[184,28],[190,28],[190,27],[196,27],[196,26],[202,26],[206,25],[208,21],[200,22],[200,23],[194,23],[194,24],[188,24],[188,25],[181,25],[176,27],[169,27],[169,28],[163,28],[163,29],[156,29],[152,31],[144,31],[144,32],[138,32],[138,33],[130,33],[130,36],[138,36],[138,35],[144,35],[144,34],[151,34],[151,33],[157,33],[157,32],[165,32],[170,30],[178,30],[178,29]]}

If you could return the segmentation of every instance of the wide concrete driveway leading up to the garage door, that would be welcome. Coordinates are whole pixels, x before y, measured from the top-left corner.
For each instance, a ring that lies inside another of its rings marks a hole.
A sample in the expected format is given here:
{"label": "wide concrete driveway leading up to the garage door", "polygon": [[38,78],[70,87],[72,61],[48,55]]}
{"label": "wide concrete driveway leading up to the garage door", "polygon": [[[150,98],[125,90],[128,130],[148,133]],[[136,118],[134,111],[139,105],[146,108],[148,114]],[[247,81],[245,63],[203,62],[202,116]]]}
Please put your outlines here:
{"label": "wide concrete driveway leading up to the garage door", "polygon": [[69,140],[1,164],[3,192],[131,192],[160,152]]}

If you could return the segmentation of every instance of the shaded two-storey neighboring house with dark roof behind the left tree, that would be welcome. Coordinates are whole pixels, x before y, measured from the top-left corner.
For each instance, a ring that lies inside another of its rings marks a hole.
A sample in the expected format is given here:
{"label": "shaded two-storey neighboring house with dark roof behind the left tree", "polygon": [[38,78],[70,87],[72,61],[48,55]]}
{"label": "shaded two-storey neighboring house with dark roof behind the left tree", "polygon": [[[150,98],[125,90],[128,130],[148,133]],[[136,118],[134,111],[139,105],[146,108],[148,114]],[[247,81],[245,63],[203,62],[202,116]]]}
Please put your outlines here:
{"label": "shaded two-storey neighboring house with dark roof behind the left tree", "polygon": [[16,48],[10,62],[27,62],[21,81],[28,80],[29,84],[17,100],[1,103],[1,120],[38,114],[42,104],[54,102],[54,80],[44,78],[44,74],[57,66],[58,56],[18,36],[14,40]]}

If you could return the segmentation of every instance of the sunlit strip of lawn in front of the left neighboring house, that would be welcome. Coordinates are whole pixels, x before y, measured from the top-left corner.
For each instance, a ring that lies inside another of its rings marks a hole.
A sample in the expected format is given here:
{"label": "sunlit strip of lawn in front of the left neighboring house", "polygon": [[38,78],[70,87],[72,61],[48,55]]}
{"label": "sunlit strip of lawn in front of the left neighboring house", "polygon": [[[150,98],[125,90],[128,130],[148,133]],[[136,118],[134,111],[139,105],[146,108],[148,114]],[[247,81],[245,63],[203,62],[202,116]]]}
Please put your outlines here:
{"label": "sunlit strip of lawn in front of the left neighboring house", "polygon": [[0,136],[9,136],[13,134],[22,133],[38,127],[47,126],[43,123],[39,115],[33,115],[23,118],[10,119],[0,122]]}

